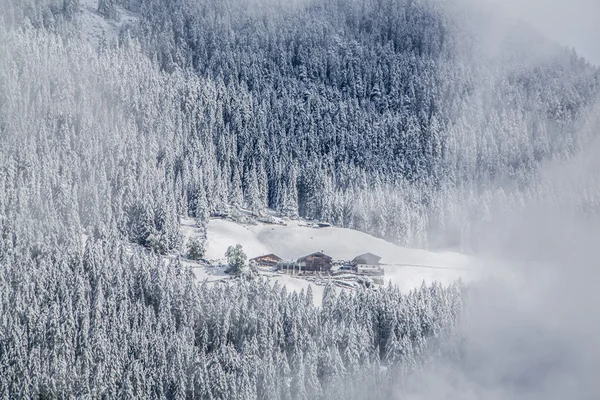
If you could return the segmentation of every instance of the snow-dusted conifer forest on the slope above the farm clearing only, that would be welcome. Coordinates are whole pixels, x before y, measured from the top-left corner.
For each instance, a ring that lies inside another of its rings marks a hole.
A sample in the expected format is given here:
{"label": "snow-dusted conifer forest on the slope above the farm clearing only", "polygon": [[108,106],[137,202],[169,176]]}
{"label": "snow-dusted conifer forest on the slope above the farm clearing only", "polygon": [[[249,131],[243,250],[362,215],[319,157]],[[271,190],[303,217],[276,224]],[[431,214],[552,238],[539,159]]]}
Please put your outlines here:
{"label": "snow-dusted conifer forest on the slope above the farm clearing only", "polygon": [[[21,30],[3,69],[22,73],[3,79],[17,149],[3,162],[61,160],[42,186],[60,186],[85,228],[142,244],[174,248],[176,214],[244,206],[468,249],[471,225],[546,197],[540,164],[592,135],[580,117],[595,67],[519,25],[489,54],[469,16],[436,2],[144,0],[126,4],[139,26],[99,54],[60,22],[71,3],[5,18]],[[56,155],[40,147],[58,137]]]}

